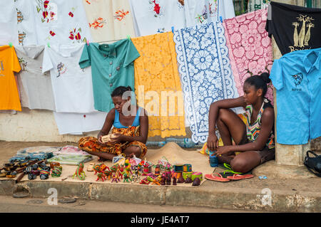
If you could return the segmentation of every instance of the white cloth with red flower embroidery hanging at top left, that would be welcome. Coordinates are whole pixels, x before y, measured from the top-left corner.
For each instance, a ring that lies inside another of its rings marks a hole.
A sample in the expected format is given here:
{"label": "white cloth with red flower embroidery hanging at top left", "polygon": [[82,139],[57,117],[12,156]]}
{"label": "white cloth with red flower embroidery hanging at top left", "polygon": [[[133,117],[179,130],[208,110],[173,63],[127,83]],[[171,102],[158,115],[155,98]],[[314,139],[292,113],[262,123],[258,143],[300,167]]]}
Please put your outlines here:
{"label": "white cloth with red flower embroidery hanging at top left", "polygon": [[[31,1],[38,45],[91,41],[82,0]],[[21,10],[24,14],[24,11]]]}

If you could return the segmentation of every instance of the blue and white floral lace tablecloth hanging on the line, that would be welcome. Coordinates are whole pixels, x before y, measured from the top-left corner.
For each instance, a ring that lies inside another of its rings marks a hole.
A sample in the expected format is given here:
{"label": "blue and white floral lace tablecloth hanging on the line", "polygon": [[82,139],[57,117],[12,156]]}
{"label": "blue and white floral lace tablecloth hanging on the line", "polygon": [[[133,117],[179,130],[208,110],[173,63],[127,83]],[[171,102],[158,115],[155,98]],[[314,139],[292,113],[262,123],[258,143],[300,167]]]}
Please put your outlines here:
{"label": "blue and white floral lace tablecloth hanging on the line", "polygon": [[206,142],[210,104],[238,97],[223,24],[182,28],[174,31],[174,41],[192,140]]}

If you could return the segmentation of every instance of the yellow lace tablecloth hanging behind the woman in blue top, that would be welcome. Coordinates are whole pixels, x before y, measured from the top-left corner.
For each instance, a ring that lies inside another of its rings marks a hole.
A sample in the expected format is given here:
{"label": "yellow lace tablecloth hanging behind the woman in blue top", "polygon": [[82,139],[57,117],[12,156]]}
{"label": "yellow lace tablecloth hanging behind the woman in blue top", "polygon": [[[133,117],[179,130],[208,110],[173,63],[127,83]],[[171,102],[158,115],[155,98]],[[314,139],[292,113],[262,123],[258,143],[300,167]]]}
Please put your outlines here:
{"label": "yellow lace tablecloth hanging behind the woman in blue top", "polygon": [[173,33],[131,39],[141,57],[134,62],[138,105],[148,112],[148,136],[186,135],[183,92]]}

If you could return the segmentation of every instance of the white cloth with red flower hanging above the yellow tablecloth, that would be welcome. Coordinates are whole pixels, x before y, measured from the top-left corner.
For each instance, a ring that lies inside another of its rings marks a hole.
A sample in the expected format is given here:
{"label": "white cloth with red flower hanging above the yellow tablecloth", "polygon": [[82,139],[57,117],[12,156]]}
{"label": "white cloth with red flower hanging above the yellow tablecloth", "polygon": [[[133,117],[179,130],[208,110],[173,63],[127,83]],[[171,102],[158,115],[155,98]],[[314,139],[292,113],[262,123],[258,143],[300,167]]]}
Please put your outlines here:
{"label": "white cloth with red flower hanging above the yellow tablecloth", "polygon": [[130,0],[136,36],[185,28],[185,10],[177,0]]}

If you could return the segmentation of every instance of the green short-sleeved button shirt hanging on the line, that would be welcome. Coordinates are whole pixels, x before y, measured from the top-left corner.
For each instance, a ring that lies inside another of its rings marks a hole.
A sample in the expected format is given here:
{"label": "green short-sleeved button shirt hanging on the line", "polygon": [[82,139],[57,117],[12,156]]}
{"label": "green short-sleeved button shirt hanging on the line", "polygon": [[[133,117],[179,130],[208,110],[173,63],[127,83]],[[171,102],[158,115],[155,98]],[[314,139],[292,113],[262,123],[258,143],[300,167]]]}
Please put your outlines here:
{"label": "green short-sleeved button shirt hanging on the line", "polygon": [[130,86],[134,90],[133,61],[139,56],[128,38],[112,44],[89,43],[84,46],[79,66],[91,65],[96,110],[109,112],[114,107],[111,93],[115,88]]}

